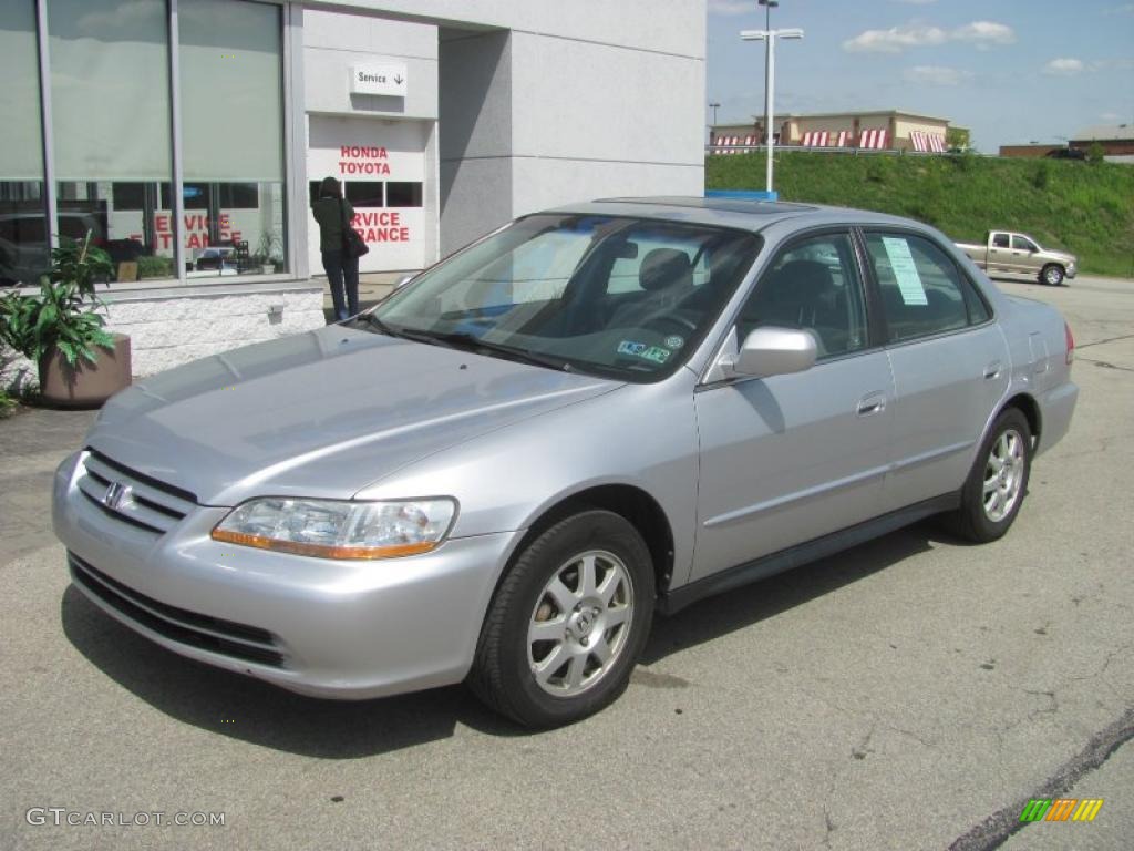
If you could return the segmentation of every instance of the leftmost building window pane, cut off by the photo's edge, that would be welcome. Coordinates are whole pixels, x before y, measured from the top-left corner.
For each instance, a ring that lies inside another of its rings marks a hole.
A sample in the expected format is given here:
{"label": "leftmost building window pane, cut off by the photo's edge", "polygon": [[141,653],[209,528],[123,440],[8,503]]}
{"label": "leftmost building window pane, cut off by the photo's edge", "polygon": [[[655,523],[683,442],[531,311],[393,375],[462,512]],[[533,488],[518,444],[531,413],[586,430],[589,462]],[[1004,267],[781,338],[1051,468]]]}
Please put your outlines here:
{"label": "leftmost building window pane, cut off by the photo's edge", "polygon": [[46,271],[34,0],[0,3],[0,286]]}

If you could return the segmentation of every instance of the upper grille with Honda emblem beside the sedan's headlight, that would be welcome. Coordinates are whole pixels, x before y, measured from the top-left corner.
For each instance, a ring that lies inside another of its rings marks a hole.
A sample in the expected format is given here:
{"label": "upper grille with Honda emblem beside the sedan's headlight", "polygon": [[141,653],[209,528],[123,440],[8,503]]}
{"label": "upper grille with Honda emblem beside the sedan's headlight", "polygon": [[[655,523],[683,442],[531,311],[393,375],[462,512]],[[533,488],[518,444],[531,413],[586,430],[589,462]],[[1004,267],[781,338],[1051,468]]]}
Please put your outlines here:
{"label": "upper grille with Honda emblem beside the sedan's headlight", "polygon": [[135,472],[88,449],[76,481],[79,492],[108,516],[164,534],[197,504],[187,490]]}

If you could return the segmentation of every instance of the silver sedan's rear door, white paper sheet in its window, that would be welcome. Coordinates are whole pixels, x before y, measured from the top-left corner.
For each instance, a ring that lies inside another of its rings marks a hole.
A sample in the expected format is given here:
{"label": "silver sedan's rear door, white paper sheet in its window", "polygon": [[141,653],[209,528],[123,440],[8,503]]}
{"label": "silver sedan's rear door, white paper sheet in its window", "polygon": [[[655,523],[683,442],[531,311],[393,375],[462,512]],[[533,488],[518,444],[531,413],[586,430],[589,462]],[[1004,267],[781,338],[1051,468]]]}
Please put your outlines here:
{"label": "silver sedan's rear door, white paper sheet in its window", "polygon": [[865,236],[894,372],[892,511],[960,488],[1010,370],[988,305],[945,251],[909,234]]}

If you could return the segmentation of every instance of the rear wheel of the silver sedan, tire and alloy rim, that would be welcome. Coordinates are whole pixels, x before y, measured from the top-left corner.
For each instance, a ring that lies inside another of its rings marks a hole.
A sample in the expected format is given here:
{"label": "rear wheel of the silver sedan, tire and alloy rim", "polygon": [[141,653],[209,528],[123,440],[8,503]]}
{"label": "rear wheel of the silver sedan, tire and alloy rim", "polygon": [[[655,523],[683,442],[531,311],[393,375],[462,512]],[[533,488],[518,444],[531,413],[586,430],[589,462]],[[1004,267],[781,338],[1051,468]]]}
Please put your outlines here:
{"label": "rear wheel of the silver sedan, tire and alloy rim", "polygon": [[1032,430],[1016,407],[1000,412],[960,491],[960,507],[949,517],[955,533],[988,544],[1012,526],[1027,495]]}

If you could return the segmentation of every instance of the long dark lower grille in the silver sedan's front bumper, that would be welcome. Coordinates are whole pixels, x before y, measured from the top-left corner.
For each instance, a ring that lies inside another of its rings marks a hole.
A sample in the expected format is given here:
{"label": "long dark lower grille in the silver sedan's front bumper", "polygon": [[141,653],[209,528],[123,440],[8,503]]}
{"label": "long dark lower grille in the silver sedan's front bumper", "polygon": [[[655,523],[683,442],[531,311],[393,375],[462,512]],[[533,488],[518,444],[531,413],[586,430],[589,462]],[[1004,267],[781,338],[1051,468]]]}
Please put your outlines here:
{"label": "long dark lower grille in the silver sedan's front bumper", "polygon": [[188,612],[160,603],[111,579],[74,553],[67,554],[71,579],[124,617],[180,644],[261,665],[284,667],[279,639],[268,630]]}

